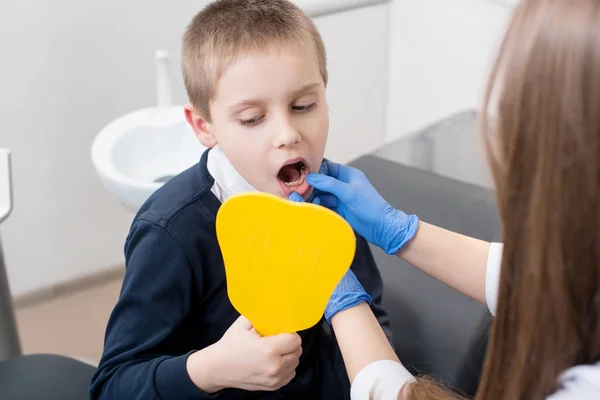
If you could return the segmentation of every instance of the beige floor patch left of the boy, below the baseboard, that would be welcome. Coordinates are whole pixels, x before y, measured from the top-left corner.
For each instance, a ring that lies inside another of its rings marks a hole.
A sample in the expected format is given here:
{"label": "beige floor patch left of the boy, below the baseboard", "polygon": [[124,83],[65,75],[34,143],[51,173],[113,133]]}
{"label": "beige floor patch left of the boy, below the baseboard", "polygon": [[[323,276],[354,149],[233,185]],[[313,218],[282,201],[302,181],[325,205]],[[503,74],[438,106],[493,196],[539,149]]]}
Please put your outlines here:
{"label": "beige floor patch left of the boy, below the baseboard", "polygon": [[114,280],[17,309],[23,352],[61,354],[97,364],[120,288],[121,280]]}

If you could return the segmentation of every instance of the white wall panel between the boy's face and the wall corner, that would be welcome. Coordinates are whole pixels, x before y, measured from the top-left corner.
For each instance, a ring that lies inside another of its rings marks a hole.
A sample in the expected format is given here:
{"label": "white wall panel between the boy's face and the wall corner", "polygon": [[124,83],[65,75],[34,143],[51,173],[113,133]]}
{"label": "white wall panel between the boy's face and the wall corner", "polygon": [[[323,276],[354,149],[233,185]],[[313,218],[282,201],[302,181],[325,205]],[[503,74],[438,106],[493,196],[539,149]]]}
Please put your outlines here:
{"label": "white wall panel between the boy's face and the wall corner", "polygon": [[388,6],[315,18],[327,47],[326,157],[347,162],[382,145],[388,88]]}

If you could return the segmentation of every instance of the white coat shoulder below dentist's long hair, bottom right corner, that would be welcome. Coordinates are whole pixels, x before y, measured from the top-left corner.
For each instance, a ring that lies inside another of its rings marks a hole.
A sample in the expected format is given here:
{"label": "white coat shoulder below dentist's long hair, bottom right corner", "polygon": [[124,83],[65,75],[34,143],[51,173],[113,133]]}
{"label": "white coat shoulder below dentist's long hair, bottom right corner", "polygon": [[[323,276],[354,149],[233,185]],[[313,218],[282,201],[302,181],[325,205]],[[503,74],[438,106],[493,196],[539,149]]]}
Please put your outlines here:
{"label": "white coat shoulder below dentist's long hair, bottom right corner", "polygon": [[600,363],[569,368],[558,379],[559,389],[547,400],[600,399]]}

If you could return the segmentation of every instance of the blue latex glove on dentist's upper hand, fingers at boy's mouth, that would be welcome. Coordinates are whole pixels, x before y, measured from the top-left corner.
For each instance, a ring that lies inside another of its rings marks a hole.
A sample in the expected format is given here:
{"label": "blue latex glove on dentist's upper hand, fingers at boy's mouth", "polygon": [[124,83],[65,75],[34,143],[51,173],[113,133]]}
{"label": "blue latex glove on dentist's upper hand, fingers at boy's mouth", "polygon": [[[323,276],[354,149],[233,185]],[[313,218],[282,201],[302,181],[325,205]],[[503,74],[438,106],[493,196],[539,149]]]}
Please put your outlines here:
{"label": "blue latex glove on dentist's upper hand, fingers at boy's mouth", "polygon": [[317,192],[313,203],[337,212],[387,254],[396,254],[417,233],[419,218],[392,207],[358,169],[324,161],[307,180]]}

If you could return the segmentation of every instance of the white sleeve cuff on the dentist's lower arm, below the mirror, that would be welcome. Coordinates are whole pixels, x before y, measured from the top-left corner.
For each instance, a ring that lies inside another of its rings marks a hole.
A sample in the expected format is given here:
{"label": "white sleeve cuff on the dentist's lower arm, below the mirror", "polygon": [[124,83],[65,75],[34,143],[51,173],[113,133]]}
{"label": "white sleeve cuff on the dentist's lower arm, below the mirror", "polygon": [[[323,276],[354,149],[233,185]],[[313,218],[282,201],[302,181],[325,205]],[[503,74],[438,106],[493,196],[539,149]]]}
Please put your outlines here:
{"label": "white sleeve cuff on the dentist's lower arm, below the mirror", "polygon": [[[397,361],[372,362],[354,378],[350,398],[352,400],[397,400],[400,389],[415,378]],[[371,397],[372,396],[372,397]]]}

